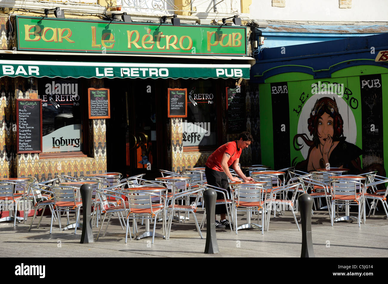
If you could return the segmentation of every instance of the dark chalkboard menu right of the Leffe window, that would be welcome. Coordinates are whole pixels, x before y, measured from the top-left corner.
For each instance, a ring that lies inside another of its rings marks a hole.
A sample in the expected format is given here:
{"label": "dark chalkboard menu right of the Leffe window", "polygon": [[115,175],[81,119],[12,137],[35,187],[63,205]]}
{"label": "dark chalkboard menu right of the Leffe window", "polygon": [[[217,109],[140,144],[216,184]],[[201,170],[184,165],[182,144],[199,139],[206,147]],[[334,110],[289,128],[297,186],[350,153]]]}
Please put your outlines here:
{"label": "dark chalkboard menu right of the Leffe window", "polygon": [[246,130],[245,92],[242,86],[226,88],[226,112],[228,133],[239,133]]}

